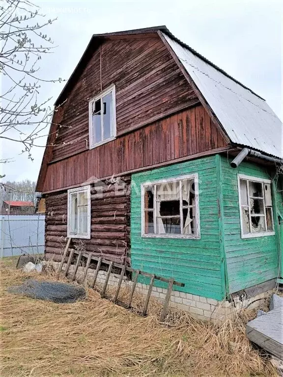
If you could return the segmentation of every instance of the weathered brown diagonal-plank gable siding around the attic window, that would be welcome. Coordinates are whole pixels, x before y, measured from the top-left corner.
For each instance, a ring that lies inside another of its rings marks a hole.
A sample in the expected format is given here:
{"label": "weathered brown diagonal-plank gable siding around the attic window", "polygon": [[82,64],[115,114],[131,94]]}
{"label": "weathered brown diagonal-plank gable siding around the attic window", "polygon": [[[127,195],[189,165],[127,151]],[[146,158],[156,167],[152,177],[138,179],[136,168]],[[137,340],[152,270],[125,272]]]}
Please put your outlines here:
{"label": "weathered brown diagonal-plank gable siding around the attic window", "polygon": [[152,38],[106,40],[97,46],[61,107],[52,160],[88,149],[88,101],[101,87],[112,84],[116,86],[117,135],[197,100],[156,34]]}

